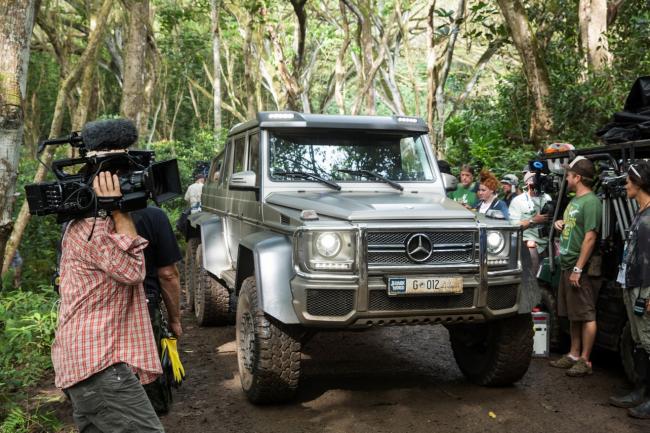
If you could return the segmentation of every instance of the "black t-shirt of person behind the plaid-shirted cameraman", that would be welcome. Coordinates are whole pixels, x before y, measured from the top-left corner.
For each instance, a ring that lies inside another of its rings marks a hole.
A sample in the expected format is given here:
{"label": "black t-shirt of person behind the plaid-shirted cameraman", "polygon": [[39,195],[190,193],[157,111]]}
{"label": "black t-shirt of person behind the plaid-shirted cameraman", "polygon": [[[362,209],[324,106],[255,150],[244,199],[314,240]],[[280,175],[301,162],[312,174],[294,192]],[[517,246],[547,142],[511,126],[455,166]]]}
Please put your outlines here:
{"label": "black t-shirt of person behind the plaid-shirted cameraman", "polygon": [[147,207],[131,212],[131,218],[140,236],[149,241],[144,250],[147,276],[144,288],[147,298],[160,301],[160,283],[158,268],[169,266],[181,260],[181,251],[176,236],[165,212],[157,207]]}

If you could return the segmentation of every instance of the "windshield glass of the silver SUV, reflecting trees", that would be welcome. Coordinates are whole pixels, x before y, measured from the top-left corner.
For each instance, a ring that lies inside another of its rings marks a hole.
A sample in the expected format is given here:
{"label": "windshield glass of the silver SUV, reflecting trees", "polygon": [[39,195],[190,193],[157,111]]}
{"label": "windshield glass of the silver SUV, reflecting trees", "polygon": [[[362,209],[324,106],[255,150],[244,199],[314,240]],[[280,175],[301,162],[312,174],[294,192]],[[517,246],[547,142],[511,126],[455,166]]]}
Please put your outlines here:
{"label": "windshield glass of the silver SUV, reflecting trees", "polygon": [[304,181],[282,174],[304,172],[336,182],[377,182],[373,176],[350,172],[366,170],[393,181],[431,181],[425,145],[423,136],[390,133],[269,132],[271,179]]}

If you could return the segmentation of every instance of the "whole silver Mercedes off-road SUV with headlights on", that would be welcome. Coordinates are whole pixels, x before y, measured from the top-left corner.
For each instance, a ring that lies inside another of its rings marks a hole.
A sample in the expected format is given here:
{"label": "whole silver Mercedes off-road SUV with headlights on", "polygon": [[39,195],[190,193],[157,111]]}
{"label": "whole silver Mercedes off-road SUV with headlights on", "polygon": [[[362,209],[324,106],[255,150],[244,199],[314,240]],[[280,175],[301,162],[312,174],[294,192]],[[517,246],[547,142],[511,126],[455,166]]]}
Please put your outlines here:
{"label": "whole silver Mercedes off-road SUV with headlights on", "polygon": [[527,371],[520,230],[447,199],[427,133],[414,117],[295,112],[230,131],[190,217],[187,292],[199,324],[235,321],[252,402],[295,394],[319,329],[442,324],[470,380]]}

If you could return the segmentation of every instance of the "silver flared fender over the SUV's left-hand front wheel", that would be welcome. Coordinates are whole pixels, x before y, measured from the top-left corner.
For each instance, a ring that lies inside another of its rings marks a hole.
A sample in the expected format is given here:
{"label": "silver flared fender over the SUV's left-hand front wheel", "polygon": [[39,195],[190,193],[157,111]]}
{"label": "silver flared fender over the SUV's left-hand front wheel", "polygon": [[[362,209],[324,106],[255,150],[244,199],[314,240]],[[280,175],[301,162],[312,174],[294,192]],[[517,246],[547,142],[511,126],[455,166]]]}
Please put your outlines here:
{"label": "silver flared fender over the SUV's left-hand front wheel", "polygon": [[291,239],[270,232],[257,232],[242,239],[237,260],[237,291],[251,273],[257,281],[262,310],[282,323],[300,323],[293,309],[289,284],[295,275]]}

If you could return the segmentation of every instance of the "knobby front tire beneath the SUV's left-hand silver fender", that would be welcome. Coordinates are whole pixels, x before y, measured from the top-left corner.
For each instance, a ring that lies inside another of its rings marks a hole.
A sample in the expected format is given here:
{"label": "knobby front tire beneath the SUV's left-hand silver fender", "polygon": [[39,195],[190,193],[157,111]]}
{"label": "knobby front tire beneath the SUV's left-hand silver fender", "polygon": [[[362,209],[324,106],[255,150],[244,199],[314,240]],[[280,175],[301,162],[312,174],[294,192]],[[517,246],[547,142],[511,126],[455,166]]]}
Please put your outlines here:
{"label": "knobby front tire beneath the SUV's left-hand silver fender", "polygon": [[237,364],[242,389],[252,403],[281,403],[296,394],[301,356],[297,331],[265,315],[255,277],[244,280],[237,300]]}

